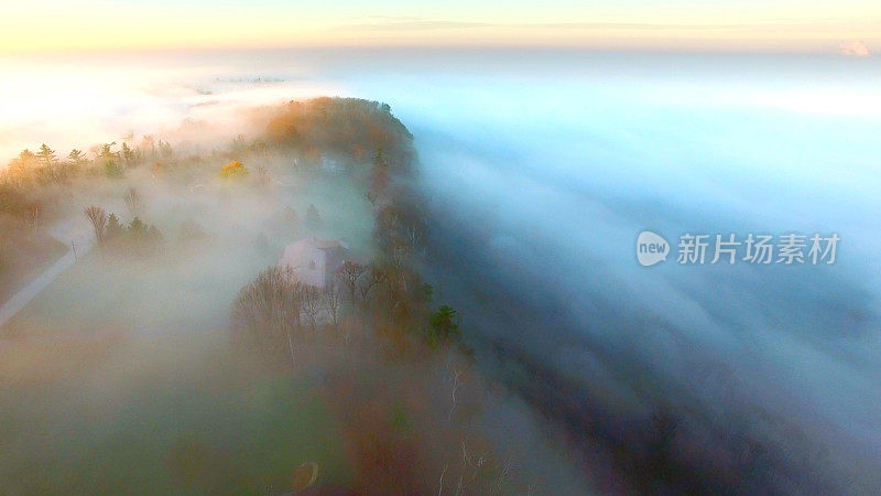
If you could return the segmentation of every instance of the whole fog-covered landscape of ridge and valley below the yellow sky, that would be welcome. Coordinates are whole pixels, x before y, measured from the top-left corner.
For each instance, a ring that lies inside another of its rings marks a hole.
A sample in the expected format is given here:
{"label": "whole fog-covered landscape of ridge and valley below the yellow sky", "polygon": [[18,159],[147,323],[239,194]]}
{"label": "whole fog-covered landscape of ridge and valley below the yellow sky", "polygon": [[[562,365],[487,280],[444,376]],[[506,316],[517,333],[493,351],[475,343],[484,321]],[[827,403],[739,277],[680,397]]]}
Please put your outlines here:
{"label": "whole fog-covered landscape of ridge and valley below the yellow sky", "polygon": [[9,65],[0,494],[877,492],[874,66],[431,54]]}

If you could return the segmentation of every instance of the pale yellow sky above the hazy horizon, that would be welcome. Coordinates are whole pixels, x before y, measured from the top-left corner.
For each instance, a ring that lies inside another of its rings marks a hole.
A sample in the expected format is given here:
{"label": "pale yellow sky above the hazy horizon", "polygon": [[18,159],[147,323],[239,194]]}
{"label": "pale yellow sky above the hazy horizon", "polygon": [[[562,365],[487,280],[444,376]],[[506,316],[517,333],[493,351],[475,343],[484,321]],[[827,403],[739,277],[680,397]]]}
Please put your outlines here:
{"label": "pale yellow sky above the hazy horizon", "polygon": [[365,45],[835,52],[853,43],[881,50],[877,0],[1,2],[0,53]]}

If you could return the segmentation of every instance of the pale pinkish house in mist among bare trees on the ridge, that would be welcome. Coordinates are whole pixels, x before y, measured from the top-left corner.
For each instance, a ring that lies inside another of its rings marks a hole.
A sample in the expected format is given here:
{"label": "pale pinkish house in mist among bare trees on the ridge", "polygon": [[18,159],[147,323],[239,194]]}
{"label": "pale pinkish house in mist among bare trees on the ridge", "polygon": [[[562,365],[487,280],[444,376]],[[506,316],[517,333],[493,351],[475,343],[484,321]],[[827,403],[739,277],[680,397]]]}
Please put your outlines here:
{"label": "pale pinkish house in mist among bare trees on the ridge", "polygon": [[284,248],[279,267],[290,267],[300,282],[324,289],[336,277],[348,251],[339,239],[303,239]]}

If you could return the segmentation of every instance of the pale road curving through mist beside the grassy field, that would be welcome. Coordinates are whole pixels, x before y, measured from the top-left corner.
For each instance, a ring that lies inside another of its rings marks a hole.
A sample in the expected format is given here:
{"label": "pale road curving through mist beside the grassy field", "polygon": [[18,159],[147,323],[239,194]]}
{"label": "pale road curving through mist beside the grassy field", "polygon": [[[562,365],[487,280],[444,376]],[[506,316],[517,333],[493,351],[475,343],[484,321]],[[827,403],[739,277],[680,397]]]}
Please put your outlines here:
{"label": "pale road curving through mist beside the grassy field", "polygon": [[[67,246],[67,254],[56,260],[55,263],[34,278],[28,285],[19,290],[18,293],[13,294],[12,298],[0,306],[0,327],[6,325],[6,323],[28,305],[31,300],[46,289],[52,281],[57,279],[65,270],[73,267],[78,257],[83,257],[95,246],[94,236],[89,231],[85,219],[83,219],[83,222],[68,220],[57,224],[48,229],[48,234]],[[70,248],[70,241],[73,241],[74,247],[76,247],[76,254],[74,249]]]}

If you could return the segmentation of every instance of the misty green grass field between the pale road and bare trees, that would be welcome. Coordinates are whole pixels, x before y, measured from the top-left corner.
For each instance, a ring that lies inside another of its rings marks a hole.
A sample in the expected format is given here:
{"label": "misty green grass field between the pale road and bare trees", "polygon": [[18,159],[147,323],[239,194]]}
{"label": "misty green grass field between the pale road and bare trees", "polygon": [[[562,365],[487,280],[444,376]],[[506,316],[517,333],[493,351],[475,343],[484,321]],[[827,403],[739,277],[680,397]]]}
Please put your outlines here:
{"label": "misty green grass field between the pale road and bare trees", "polygon": [[65,272],[0,341],[0,493],[282,493],[305,462],[348,484],[320,395],[228,345],[229,302],[272,257],[95,250]]}

